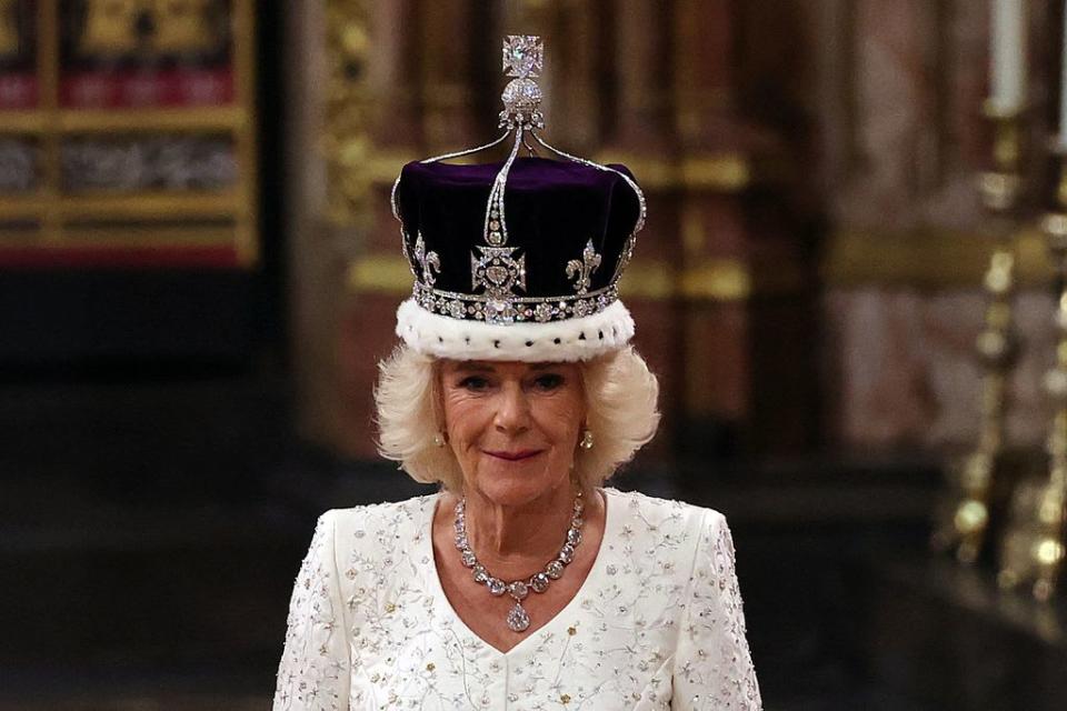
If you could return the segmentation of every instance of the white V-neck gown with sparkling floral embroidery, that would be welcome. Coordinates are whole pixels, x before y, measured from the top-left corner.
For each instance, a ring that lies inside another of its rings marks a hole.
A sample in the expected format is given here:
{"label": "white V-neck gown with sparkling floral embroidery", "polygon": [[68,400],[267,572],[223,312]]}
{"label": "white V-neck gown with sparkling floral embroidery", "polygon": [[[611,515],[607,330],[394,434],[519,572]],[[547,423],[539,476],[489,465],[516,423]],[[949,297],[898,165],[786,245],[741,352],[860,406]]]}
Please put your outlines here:
{"label": "white V-neck gown with sparkling floral embroidery", "polygon": [[760,709],[726,519],[604,493],[588,578],[508,652],[445,597],[436,494],[325,513],[292,593],[276,711]]}

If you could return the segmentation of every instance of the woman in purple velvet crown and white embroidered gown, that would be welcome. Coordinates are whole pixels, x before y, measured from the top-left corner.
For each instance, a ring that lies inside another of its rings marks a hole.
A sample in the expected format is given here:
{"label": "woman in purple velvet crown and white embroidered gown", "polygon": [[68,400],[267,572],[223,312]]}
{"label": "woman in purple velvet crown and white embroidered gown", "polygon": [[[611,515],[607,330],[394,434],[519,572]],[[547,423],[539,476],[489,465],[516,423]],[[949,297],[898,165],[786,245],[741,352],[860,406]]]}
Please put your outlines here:
{"label": "woman in purple velvet crown and white embroidered gown", "polygon": [[440,491],[319,519],[275,708],[759,709],[722,515],[604,488],[658,421],[616,291],[641,192],[518,158],[555,150],[536,103],[506,91],[503,119],[505,162],[397,181],[416,283],[380,448]]}

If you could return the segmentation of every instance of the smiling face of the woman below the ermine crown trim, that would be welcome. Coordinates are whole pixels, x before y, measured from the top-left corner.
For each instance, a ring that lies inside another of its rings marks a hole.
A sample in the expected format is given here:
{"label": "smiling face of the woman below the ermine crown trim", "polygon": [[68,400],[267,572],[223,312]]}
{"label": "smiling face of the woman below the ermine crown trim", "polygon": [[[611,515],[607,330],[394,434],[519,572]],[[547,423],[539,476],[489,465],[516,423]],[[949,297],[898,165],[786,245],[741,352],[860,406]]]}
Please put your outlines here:
{"label": "smiling face of the woman below the ermine crown trim", "polygon": [[567,484],[586,419],[576,363],[447,360],[440,385],[468,491],[515,507]]}

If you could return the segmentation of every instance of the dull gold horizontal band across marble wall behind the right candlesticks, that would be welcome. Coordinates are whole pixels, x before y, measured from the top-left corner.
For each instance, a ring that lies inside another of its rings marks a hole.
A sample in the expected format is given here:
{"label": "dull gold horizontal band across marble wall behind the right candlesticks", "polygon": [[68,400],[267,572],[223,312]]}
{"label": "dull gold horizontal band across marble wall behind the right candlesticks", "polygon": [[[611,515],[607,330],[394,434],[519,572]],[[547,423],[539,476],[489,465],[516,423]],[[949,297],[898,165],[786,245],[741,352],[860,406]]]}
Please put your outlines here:
{"label": "dull gold horizontal band across marble wall behind the right candlesticks", "polygon": [[[1053,266],[1036,226],[1019,230],[1010,246],[1024,287],[1051,282]],[[979,289],[996,247],[975,232],[841,230],[828,238],[820,271],[824,282],[836,288]]]}

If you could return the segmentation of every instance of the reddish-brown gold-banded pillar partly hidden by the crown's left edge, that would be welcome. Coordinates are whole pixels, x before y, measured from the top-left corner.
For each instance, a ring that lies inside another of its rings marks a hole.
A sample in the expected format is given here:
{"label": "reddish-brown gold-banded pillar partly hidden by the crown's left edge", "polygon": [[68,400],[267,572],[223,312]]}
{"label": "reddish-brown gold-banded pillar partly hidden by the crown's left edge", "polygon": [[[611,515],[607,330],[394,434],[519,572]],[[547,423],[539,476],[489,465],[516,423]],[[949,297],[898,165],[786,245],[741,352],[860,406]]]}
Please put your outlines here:
{"label": "reddish-brown gold-banded pillar partly hidden by the crown's left edge", "polygon": [[[370,198],[366,229],[348,262],[337,344],[345,431],[339,448],[357,459],[377,457],[377,364],[397,342],[397,306],[411,289],[390,208],[392,183],[407,161],[428,154],[428,140],[448,140],[449,127],[461,128],[453,122],[470,94],[463,57],[452,53],[448,41],[458,9],[459,3],[420,0],[372,3],[368,87],[373,120],[365,164]],[[441,87],[435,88],[437,81]]]}

